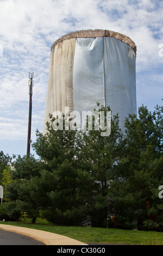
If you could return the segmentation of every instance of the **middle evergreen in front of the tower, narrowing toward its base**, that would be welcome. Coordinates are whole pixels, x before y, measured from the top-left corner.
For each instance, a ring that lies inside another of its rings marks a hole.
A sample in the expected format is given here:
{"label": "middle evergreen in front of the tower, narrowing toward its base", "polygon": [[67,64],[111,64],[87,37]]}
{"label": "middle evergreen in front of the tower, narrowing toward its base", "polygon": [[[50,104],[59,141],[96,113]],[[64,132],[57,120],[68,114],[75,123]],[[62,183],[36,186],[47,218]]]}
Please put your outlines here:
{"label": "middle evergreen in front of the tower, narrowing toward its base", "polygon": [[[110,107],[99,107],[99,123],[102,118],[102,112],[106,123],[106,114],[110,112]],[[87,127],[89,127],[88,120]],[[122,132],[118,127],[118,114],[111,118],[110,135],[102,136],[101,129],[81,131],[78,134],[76,147],[78,164],[80,168],[86,170],[92,177],[92,197],[89,201],[89,214],[94,227],[106,227],[107,215],[111,214],[108,193],[112,184],[114,170],[117,168],[121,155],[122,137]]]}

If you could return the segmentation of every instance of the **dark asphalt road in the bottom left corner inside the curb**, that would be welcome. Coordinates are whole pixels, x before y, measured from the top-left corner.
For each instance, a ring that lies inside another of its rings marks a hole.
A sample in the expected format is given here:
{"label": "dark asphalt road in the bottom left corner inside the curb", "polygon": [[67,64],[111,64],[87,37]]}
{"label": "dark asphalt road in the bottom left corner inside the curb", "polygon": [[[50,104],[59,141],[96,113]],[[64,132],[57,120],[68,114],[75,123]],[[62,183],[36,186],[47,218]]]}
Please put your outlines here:
{"label": "dark asphalt road in the bottom left corner inside the curb", "polygon": [[29,236],[0,230],[0,245],[43,245],[43,243]]}

